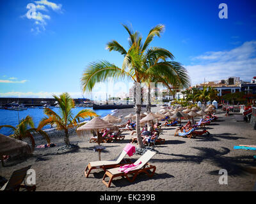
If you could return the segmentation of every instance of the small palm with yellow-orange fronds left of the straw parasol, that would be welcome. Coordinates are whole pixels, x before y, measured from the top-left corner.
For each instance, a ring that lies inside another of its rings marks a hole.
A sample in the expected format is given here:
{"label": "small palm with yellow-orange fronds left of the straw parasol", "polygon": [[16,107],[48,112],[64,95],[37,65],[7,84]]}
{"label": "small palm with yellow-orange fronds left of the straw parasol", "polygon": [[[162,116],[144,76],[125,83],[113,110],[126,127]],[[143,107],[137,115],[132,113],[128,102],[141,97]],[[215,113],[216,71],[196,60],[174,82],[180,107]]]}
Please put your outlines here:
{"label": "small palm with yellow-orange fronds left of the straw parasol", "polygon": [[63,130],[65,133],[64,142],[67,147],[70,146],[68,129],[74,128],[80,122],[80,119],[86,117],[97,116],[92,110],[84,109],[79,111],[75,117],[72,114],[72,108],[75,107],[74,100],[70,98],[67,92],[60,95],[60,97],[53,95],[53,97],[58,101],[60,105],[60,115],[51,110],[50,108],[45,108],[44,113],[48,117],[44,117],[39,124],[39,128],[46,126],[47,124],[56,125],[57,129]]}

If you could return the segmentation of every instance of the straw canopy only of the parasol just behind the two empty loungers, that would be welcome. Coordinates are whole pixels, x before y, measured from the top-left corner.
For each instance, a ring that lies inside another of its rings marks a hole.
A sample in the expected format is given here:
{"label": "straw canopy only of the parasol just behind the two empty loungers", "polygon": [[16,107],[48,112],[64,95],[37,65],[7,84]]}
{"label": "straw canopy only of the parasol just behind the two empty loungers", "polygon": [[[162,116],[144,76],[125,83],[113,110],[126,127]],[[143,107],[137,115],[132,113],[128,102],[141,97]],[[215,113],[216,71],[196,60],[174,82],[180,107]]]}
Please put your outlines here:
{"label": "straw canopy only of the parasol just behind the two empty loungers", "polygon": [[95,129],[102,129],[102,128],[113,128],[115,127],[115,124],[111,124],[103,119],[100,119],[100,117],[95,117],[83,126],[76,129],[76,133],[78,136],[84,136],[87,135],[86,133],[90,130]]}

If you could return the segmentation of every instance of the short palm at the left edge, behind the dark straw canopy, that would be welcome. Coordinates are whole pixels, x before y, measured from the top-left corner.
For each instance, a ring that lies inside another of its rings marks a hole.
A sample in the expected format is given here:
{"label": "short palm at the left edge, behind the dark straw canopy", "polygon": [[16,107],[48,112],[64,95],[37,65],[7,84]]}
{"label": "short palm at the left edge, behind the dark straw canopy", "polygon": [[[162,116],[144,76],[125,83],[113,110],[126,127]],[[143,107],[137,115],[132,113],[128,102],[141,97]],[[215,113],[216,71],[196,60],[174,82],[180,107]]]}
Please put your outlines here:
{"label": "short palm at the left edge, behind the dark straw canopy", "polygon": [[42,130],[42,128],[35,128],[33,119],[28,115],[25,119],[20,120],[19,124],[14,126],[0,126],[1,128],[11,128],[13,130],[13,134],[10,135],[11,137],[17,139],[17,140],[23,140],[24,138],[29,138],[31,141],[31,147],[32,149],[35,148],[35,139],[33,137],[33,133],[39,133],[40,135],[44,136],[47,143],[51,143],[51,140],[47,133]]}

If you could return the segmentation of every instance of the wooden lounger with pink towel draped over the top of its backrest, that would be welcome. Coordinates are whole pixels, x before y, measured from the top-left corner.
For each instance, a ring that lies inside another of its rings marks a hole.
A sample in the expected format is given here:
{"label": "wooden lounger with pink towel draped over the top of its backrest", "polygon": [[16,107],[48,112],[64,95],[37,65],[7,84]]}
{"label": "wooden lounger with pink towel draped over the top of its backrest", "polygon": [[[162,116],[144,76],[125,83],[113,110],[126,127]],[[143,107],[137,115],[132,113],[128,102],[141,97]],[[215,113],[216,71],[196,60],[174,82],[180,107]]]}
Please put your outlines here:
{"label": "wooden lounger with pink towel draped over the top of its backrest", "polygon": [[122,150],[121,154],[115,160],[90,162],[84,170],[85,177],[88,178],[90,172],[98,168],[102,168],[102,170],[106,171],[107,168],[114,168],[116,166],[121,166],[122,164],[131,164],[131,159],[124,159],[125,155],[126,152]]}

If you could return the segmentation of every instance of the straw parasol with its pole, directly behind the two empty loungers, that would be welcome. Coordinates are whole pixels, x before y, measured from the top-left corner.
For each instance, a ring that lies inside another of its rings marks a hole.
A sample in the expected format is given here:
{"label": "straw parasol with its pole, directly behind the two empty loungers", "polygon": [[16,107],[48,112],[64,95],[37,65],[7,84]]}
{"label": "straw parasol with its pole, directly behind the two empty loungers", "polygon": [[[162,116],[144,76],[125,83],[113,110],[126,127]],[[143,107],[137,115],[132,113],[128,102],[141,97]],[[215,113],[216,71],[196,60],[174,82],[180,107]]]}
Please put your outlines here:
{"label": "straw parasol with its pole, directly behind the two empty loungers", "polygon": [[[113,128],[115,127],[115,124],[111,124],[105,120],[100,119],[100,117],[95,117],[83,126],[76,129],[76,133],[78,136],[86,136],[88,133],[91,133],[90,131],[94,130],[97,133],[97,141],[100,146],[100,142],[102,142],[102,135],[99,133],[99,129],[103,128]],[[99,160],[100,160],[100,150],[99,150]]]}

